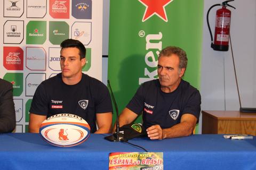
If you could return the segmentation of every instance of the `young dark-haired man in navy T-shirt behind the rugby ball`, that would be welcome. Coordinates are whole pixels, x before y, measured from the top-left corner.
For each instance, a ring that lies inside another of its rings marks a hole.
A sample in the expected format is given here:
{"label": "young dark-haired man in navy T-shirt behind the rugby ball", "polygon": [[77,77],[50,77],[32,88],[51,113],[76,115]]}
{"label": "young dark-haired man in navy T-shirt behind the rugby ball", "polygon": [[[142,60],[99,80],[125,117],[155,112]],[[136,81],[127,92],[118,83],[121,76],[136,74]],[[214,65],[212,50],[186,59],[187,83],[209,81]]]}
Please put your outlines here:
{"label": "young dark-haired man in navy T-shirt behind the rugby ball", "polygon": [[109,133],[112,123],[109,91],[102,82],[82,73],[86,63],[84,45],[67,39],[60,46],[61,73],[43,81],[36,89],[29,111],[29,132],[38,133],[47,117],[70,113],[84,118],[91,133]]}

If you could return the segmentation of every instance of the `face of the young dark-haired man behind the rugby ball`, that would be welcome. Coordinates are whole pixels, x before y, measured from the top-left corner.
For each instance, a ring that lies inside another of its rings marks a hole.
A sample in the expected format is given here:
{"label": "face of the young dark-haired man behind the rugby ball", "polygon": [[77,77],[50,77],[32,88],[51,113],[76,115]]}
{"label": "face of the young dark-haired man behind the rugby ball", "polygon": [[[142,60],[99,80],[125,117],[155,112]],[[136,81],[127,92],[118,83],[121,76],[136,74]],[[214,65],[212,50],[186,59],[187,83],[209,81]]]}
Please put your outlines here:
{"label": "face of the young dark-haired man behind the rugby ball", "polygon": [[80,60],[78,48],[62,48],[60,51],[60,67],[63,78],[76,78],[82,73],[82,67],[84,65],[85,58]]}

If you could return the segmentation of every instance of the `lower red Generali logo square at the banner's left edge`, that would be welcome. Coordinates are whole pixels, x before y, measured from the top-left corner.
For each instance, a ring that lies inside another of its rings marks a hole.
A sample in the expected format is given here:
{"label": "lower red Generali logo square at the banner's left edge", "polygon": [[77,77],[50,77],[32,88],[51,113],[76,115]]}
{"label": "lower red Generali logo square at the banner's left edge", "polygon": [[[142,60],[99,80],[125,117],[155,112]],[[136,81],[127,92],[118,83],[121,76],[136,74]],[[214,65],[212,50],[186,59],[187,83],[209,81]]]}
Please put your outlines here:
{"label": "lower red Generali logo square at the banner's left edge", "polygon": [[23,70],[23,50],[20,47],[4,47],[4,67],[7,70]]}

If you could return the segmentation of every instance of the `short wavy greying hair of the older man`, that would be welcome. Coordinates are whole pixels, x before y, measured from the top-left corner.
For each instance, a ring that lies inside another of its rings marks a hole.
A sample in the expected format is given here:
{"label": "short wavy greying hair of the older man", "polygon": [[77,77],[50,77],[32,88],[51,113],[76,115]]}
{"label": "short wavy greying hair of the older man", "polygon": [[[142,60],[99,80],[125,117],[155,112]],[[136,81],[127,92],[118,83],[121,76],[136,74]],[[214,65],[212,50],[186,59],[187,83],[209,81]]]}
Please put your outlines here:
{"label": "short wavy greying hair of the older man", "polygon": [[183,49],[181,49],[179,47],[173,47],[173,46],[166,47],[166,48],[162,49],[162,51],[159,54],[159,57],[161,57],[161,56],[169,57],[172,54],[175,54],[179,57],[179,59],[180,59],[179,68],[186,69],[187,64],[188,64],[187,54]]}

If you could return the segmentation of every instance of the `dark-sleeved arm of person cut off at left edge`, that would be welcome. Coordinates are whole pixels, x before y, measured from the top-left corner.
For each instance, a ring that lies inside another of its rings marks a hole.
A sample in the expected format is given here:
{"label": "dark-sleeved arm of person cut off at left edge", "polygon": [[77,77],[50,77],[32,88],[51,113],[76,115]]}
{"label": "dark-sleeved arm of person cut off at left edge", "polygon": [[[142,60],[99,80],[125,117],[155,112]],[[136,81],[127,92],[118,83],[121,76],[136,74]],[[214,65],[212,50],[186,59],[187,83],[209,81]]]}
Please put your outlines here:
{"label": "dark-sleeved arm of person cut off at left edge", "polygon": [[15,129],[15,108],[12,91],[12,84],[0,79],[0,133],[12,132]]}

